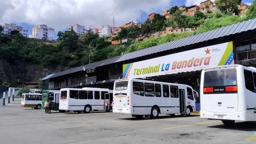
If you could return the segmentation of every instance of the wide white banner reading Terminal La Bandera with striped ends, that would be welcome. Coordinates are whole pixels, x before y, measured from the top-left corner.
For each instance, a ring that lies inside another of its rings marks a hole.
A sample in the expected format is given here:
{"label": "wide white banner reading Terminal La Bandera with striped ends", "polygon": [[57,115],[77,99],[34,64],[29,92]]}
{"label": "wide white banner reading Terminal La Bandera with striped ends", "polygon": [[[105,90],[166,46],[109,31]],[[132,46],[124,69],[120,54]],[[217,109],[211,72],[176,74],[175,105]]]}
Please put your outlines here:
{"label": "wide white banner reading Terminal La Bandera with striped ends", "polygon": [[234,64],[233,42],[197,48],[123,65],[123,78],[146,78]]}

